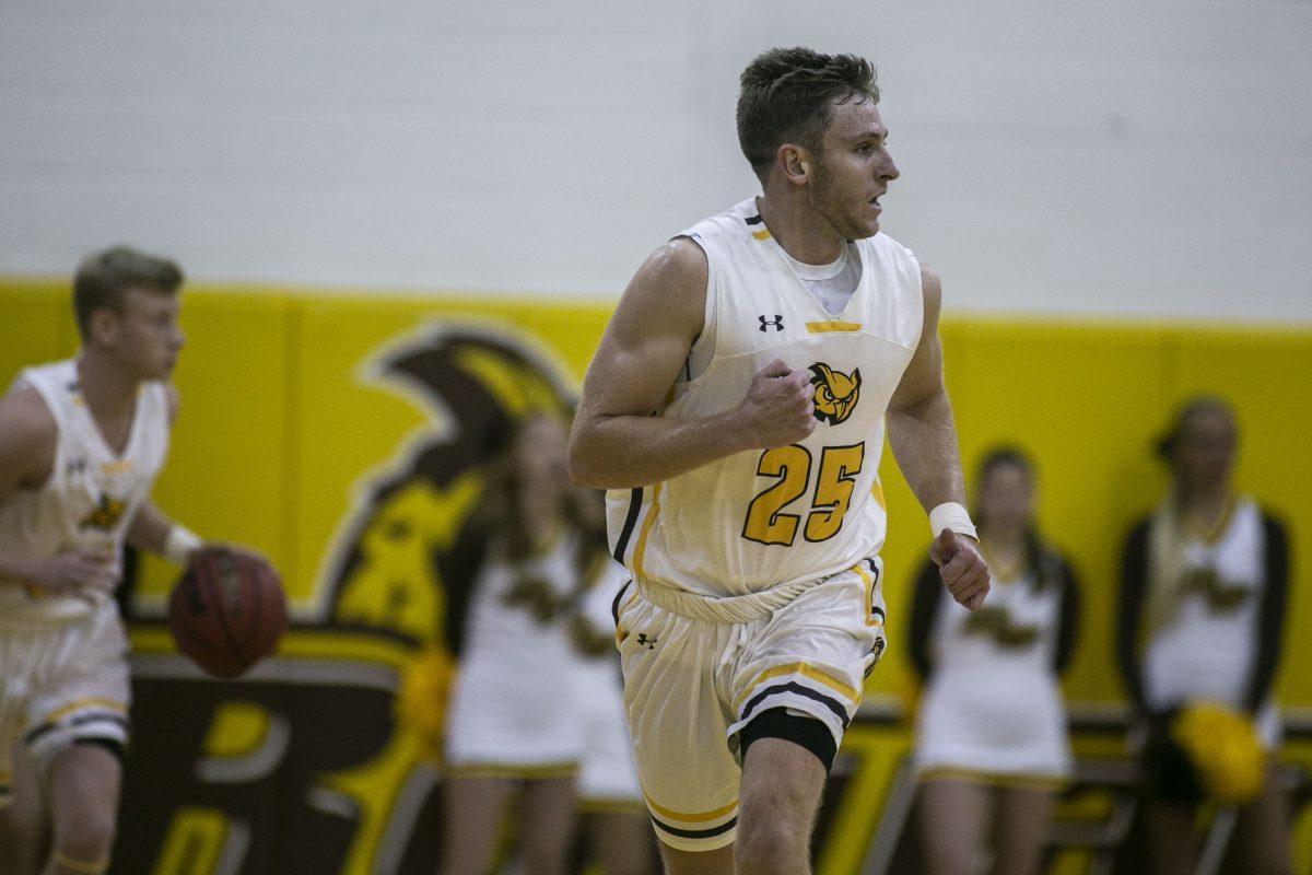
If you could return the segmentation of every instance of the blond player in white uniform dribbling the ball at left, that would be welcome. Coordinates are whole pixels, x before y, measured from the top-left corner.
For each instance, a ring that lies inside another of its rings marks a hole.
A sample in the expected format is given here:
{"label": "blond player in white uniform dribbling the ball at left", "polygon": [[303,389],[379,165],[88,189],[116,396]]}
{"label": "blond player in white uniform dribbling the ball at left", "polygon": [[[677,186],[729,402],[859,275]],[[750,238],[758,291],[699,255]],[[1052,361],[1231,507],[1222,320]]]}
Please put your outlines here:
{"label": "blond player in white uniform dribbling the ball at left", "polygon": [[168,380],[182,349],[181,283],[171,261],[126,247],[92,254],[73,279],[77,357],[22,371],[0,399],[0,792],[10,803],[0,872],[109,866],[129,728],[113,600],[123,543],[180,565],[201,546],[150,502],[177,408]]}

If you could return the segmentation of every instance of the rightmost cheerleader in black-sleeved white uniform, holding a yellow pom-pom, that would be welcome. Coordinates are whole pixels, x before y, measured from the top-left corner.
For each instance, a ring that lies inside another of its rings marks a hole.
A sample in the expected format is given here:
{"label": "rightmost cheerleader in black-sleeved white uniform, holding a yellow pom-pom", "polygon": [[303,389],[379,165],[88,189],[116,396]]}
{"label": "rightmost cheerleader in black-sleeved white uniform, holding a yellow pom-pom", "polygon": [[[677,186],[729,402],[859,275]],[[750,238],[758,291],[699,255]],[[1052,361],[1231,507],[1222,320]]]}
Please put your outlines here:
{"label": "rightmost cheerleader in black-sleeved white uniform, holding a yellow pom-pom", "polygon": [[1199,397],[1181,409],[1157,447],[1170,466],[1170,491],[1130,533],[1122,561],[1117,656],[1147,729],[1144,817],[1161,875],[1193,871],[1200,851],[1199,787],[1191,769],[1172,765],[1182,760],[1172,718],[1190,702],[1242,712],[1265,752],[1265,761],[1260,753],[1252,763],[1256,796],[1239,808],[1224,871],[1291,871],[1288,800],[1274,771],[1281,720],[1273,691],[1288,538],[1257,502],[1235,493],[1236,441],[1224,401]]}

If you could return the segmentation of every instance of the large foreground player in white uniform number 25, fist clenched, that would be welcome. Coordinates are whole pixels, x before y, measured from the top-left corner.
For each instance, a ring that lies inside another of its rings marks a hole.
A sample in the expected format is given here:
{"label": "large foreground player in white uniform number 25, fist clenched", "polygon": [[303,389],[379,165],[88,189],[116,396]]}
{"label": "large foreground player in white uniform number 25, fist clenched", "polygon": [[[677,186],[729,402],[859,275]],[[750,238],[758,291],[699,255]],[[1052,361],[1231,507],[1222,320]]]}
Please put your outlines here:
{"label": "large foreground player in white uniform number 25, fist clenched", "polygon": [[879,234],[897,178],[869,62],[766,51],[739,140],[764,194],[639,268],[571,442],[610,489],[625,702],[668,871],[807,872],[820,792],[884,647],[887,418],[933,556],[977,607],[938,277]]}

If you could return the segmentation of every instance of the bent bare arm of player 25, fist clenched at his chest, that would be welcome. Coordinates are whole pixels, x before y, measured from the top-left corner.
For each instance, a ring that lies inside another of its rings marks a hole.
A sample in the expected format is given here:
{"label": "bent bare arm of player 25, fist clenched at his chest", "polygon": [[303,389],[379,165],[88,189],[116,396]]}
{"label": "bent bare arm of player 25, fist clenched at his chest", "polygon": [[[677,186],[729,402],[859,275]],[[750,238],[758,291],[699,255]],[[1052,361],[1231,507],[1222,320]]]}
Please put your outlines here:
{"label": "bent bare arm of player 25, fist clenched at his chest", "polygon": [[628,283],[584,378],[569,437],[569,472],[594,489],[666,480],[750,449],[786,446],[815,429],[811,375],[773,362],[724,413],[659,418],[706,310],[702,248],[677,237]]}

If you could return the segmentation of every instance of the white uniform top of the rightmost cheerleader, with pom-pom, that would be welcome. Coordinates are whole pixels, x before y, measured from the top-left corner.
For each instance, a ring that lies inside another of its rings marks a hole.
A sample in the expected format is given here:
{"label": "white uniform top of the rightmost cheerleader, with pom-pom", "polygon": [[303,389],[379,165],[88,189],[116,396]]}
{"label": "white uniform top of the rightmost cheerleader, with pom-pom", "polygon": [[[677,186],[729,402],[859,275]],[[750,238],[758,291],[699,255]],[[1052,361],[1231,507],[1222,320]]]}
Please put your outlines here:
{"label": "white uniform top of the rightmost cheerleader, with pom-pom", "polygon": [[[1236,501],[1215,540],[1187,537],[1182,571],[1197,582],[1183,594],[1173,621],[1144,648],[1144,698],[1151,706],[1210,699],[1245,707],[1266,585],[1265,548],[1262,512],[1252,499]],[[1273,698],[1256,720],[1263,743],[1274,746],[1281,725]]]}

